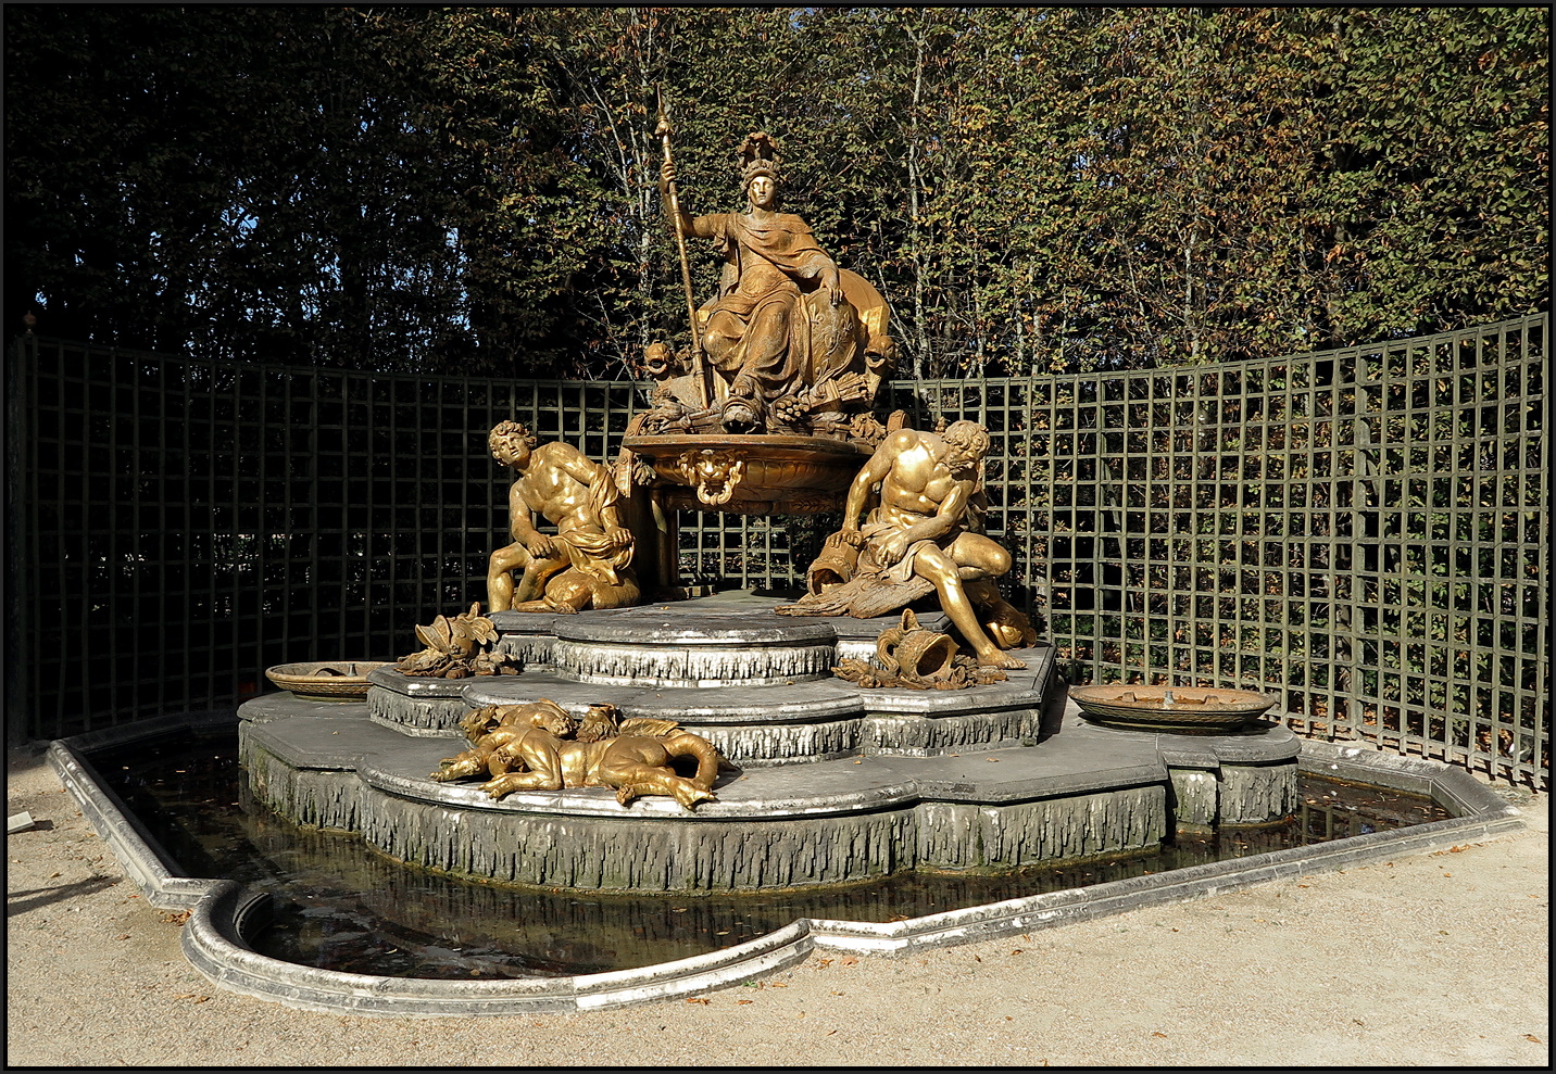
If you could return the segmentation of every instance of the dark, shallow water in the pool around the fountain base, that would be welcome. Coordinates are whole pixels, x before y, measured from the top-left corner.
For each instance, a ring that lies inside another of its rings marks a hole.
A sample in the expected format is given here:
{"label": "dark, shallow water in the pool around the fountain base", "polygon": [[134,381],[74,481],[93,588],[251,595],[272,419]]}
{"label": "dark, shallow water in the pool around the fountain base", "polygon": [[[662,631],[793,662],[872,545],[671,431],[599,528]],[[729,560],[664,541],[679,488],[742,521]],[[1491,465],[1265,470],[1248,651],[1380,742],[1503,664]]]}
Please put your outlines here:
{"label": "dark, shallow water in the pool around the fountain base", "polygon": [[275,920],[255,937],[261,954],[445,979],[654,965],[797,917],[920,917],[1447,818],[1421,796],[1302,776],[1302,808],[1287,824],[1179,836],[1158,853],[1114,861],[738,897],[594,895],[454,880],[391,861],[356,836],[297,828],[249,796],[237,757],[229,734],[140,746],[98,768],[190,875],[275,895]]}

